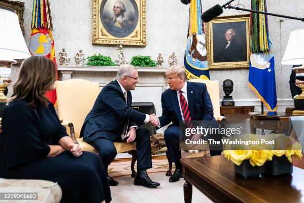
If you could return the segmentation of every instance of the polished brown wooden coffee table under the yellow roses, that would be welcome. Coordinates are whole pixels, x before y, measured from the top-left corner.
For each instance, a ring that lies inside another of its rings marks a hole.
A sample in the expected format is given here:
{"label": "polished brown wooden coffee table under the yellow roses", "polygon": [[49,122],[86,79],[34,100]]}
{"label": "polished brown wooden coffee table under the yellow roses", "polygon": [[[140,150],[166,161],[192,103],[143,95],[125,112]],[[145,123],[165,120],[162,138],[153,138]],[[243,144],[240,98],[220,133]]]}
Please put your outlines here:
{"label": "polished brown wooden coffee table under the yellow roses", "polygon": [[292,176],[243,179],[224,156],[182,158],[181,163],[185,203],[191,203],[192,185],[216,203],[304,202],[304,170],[295,166]]}

